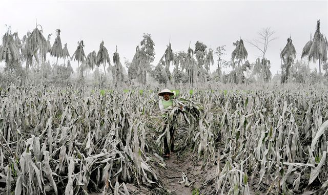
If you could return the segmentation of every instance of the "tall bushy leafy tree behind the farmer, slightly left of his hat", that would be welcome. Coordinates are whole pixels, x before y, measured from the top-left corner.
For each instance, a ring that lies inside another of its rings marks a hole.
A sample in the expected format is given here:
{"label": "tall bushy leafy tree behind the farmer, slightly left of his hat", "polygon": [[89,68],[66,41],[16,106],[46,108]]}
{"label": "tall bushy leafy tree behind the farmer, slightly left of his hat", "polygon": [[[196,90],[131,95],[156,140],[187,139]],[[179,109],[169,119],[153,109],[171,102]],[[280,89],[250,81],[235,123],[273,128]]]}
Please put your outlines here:
{"label": "tall bushy leafy tree behind the farmer, slightly left of his hat", "polygon": [[140,63],[137,67],[137,78],[142,84],[146,84],[147,72],[151,72],[150,63],[154,61],[155,49],[151,34],[145,34],[140,42]]}

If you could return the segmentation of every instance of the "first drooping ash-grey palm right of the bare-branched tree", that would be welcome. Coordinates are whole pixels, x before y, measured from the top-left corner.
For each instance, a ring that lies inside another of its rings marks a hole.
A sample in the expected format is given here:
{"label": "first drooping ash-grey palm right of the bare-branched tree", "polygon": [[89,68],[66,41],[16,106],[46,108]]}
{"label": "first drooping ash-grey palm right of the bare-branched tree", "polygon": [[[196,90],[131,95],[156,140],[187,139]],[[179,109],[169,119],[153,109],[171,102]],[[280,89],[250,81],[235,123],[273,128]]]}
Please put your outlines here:
{"label": "first drooping ash-grey palm right of the bare-branched tree", "polygon": [[294,59],[296,58],[296,50],[291,37],[287,39],[287,44],[281,51],[280,58],[284,63],[281,65],[281,81],[282,83],[285,83],[288,82],[290,68],[292,67]]}

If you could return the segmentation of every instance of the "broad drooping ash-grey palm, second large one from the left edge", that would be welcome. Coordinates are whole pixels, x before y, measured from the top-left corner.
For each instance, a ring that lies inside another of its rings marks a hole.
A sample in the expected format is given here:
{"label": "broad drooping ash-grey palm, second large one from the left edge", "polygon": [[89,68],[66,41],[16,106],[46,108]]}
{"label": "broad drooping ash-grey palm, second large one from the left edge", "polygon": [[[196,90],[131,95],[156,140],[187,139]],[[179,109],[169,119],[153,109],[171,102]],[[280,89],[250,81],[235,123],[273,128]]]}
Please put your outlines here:
{"label": "broad drooping ash-grey palm, second large one from the left edge", "polygon": [[[39,30],[37,27],[40,27],[41,30]],[[32,31],[32,33],[28,33],[28,37],[25,41],[25,55],[26,55],[26,68],[29,68],[29,65],[32,65],[32,58],[34,56],[36,62],[37,62],[37,68],[39,68],[39,60],[37,57],[37,54],[43,54],[44,50],[46,50],[47,40],[42,35],[42,26],[36,25],[35,29]]]}

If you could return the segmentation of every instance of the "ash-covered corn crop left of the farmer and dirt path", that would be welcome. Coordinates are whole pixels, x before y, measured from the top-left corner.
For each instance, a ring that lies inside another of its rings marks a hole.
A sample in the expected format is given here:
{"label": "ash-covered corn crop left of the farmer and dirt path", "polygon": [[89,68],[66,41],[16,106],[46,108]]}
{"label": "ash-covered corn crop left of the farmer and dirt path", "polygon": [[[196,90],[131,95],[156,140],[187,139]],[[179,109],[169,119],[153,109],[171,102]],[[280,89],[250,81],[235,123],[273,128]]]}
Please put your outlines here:
{"label": "ash-covered corn crop left of the farmer and dirt path", "polygon": [[[28,89],[28,90],[27,90]],[[17,88],[1,97],[7,194],[129,194],[161,187],[145,148],[145,115],[132,93]],[[50,187],[49,187],[50,186]]]}

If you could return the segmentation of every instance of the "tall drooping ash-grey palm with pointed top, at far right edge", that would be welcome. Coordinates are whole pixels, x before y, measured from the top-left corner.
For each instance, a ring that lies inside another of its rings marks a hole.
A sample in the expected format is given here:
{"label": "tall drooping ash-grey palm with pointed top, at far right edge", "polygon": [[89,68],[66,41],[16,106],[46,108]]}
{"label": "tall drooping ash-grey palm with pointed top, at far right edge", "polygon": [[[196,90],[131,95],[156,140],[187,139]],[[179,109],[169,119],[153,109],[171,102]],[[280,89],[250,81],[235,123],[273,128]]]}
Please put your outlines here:
{"label": "tall drooping ash-grey palm with pointed top, at far right edge", "polygon": [[323,34],[320,32],[320,20],[317,20],[316,32],[313,41],[308,41],[302,51],[302,57],[309,56],[309,60],[319,60],[319,75],[321,75],[321,62],[327,60],[327,44]]}

